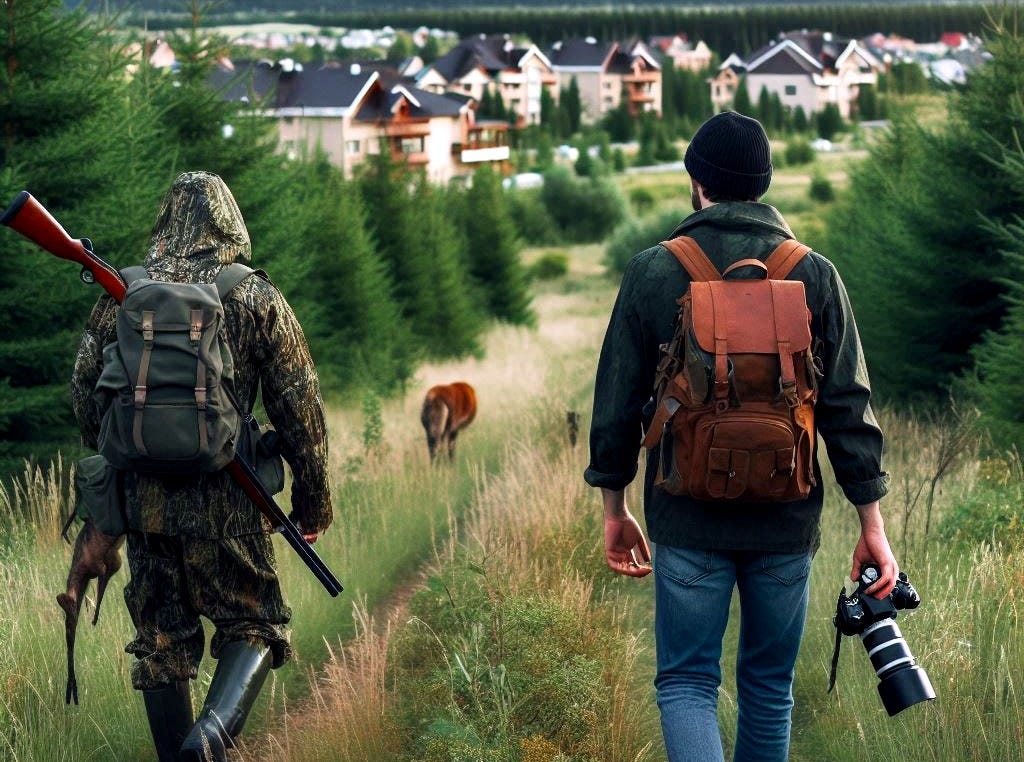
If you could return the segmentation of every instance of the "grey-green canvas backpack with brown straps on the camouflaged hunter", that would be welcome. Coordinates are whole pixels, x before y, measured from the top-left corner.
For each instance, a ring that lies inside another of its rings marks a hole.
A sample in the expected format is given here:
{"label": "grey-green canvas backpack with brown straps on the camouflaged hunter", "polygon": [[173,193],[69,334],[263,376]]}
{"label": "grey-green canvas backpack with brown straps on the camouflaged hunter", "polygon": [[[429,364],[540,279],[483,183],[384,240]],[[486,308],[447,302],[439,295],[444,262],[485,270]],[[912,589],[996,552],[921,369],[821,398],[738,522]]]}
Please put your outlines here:
{"label": "grey-green canvas backpack with brown straps on the camouflaged hunter", "polygon": [[209,284],[155,281],[144,267],[121,271],[128,290],[95,389],[98,449],[112,466],[211,472],[234,457],[244,414],[222,301],[253,272],[229,264]]}

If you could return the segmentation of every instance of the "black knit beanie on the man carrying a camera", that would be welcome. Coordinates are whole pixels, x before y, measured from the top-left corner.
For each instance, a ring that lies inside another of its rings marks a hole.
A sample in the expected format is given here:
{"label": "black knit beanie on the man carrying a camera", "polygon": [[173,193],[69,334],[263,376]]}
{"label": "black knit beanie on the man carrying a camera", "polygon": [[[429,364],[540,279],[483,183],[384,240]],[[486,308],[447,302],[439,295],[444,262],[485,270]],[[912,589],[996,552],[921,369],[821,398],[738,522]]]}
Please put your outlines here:
{"label": "black knit beanie on the man carrying a camera", "polygon": [[697,130],[686,149],[686,171],[709,190],[742,201],[771,183],[771,145],[756,119],[722,112]]}

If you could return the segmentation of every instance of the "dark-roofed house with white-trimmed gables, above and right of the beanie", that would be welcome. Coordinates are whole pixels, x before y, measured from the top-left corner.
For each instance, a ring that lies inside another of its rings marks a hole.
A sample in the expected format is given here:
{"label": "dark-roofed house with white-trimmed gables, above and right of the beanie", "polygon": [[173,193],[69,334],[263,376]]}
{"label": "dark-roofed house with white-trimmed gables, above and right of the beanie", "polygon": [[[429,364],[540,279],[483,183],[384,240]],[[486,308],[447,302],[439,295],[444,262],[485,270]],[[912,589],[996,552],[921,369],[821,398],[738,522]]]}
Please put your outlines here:
{"label": "dark-roofed house with white-trimmed gables, above and right of the beanie", "polygon": [[[810,115],[834,103],[845,119],[855,112],[860,87],[873,87],[882,71],[878,58],[856,40],[818,31],[783,33],[749,55],[743,66],[753,101],[765,89],[786,109]],[[711,83],[713,96],[718,80]],[[717,104],[722,108],[721,100]]]}

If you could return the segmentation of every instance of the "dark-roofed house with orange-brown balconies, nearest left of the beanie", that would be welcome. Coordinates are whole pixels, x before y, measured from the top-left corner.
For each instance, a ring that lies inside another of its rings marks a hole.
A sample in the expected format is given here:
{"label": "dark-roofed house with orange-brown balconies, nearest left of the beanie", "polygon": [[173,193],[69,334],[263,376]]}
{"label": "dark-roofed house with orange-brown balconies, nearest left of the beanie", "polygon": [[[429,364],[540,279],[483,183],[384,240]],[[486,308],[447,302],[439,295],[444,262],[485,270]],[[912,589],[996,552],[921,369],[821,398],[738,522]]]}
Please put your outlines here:
{"label": "dark-roofed house with orange-brown balconies, nearest left of the beanie", "polygon": [[624,101],[633,115],[662,114],[662,65],[642,42],[563,40],[551,46],[548,58],[559,87],[577,81],[586,122],[599,121]]}

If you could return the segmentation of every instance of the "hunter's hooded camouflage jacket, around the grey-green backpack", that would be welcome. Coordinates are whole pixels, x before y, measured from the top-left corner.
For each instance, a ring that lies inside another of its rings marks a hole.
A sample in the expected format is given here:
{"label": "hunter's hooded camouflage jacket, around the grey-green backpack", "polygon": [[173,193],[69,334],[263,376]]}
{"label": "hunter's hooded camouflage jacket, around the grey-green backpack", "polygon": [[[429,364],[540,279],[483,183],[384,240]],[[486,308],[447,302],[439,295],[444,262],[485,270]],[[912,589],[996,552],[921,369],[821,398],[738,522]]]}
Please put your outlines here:
{"label": "hunter's hooded camouflage jacket, around the grey-green backpack", "polygon": [[[248,234],[226,186],[215,175],[187,173],[164,201],[145,267],[157,280],[211,283],[224,264],[248,254]],[[116,340],[117,308],[105,295],[96,302],[72,377],[82,441],[91,449],[96,448],[101,418],[93,389],[102,370],[102,349]],[[293,517],[305,530],[324,530],[332,520],[327,425],[302,328],[262,273],[231,291],[224,315],[236,393],[251,409],[262,389],[263,407],[281,435],[293,476]],[[216,539],[268,528],[224,471],[177,477],[129,473],[125,498],[129,526],[141,532]]]}

